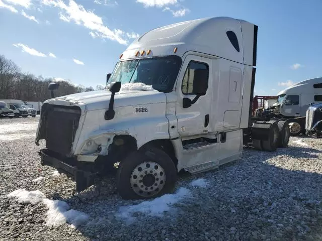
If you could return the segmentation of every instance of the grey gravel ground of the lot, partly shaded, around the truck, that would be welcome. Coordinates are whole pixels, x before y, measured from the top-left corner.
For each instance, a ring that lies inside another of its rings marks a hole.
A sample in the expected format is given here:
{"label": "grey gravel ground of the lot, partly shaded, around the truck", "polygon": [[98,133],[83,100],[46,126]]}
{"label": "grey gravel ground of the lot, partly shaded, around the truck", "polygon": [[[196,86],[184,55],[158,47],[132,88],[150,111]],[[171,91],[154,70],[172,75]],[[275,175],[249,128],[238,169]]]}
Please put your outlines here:
{"label": "grey gravel ground of the lot, partly shaded, around the truck", "polygon": [[[122,200],[113,178],[102,182],[100,193],[92,187],[73,195],[71,180],[40,165],[44,143],[34,144],[38,120],[0,119],[1,240],[322,239],[322,139],[291,138],[288,148],[273,153],[245,148],[240,160],[180,176],[177,194],[143,203]],[[195,180],[197,186],[191,185]],[[43,202],[7,197],[19,188],[65,201],[89,218],[76,228],[48,226]]]}

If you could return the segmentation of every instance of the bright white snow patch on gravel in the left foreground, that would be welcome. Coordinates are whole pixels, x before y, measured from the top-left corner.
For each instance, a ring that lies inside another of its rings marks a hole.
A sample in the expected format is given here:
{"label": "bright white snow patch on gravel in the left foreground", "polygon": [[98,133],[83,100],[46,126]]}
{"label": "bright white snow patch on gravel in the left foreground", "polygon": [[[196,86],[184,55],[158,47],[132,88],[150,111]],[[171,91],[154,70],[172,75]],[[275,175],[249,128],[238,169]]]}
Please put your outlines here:
{"label": "bright white snow patch on gravel in the left foreground", "polygon": [[89,216],[84,212],[70,209],[68,203],[61,200],[50,200],[46,198],[41,191],[27,191],[26,189],[18,189],[7,195],[8,197],[16,197],[19,203],[36,205],[40,202],[48,208],[46,225],[60,226],[66,222],[77,227],[87,222]]}

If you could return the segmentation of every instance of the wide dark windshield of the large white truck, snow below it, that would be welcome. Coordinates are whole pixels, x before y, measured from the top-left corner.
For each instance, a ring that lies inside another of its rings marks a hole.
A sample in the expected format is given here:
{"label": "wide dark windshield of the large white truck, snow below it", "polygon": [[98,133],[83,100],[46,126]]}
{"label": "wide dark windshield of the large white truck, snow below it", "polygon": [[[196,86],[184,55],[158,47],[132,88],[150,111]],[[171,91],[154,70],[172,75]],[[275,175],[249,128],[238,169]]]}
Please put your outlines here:
{"label": "wide dark windshield of the large white truck, snow below it", "polygon": [[182,60],[178,56],[156,57],[120,61],[107,84],[144,83],[160,92],[171,92],[176,82]]}

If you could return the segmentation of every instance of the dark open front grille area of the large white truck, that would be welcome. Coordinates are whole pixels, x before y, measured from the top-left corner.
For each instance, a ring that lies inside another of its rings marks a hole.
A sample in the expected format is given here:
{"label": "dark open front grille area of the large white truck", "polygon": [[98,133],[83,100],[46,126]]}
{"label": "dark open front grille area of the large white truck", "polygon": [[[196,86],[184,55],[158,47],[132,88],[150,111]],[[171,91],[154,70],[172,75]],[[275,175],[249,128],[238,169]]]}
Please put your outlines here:
{"label": "dark open front grille area of the large white truck", "polygon": [[79,107],[53,106],[46,125],[46,148],[61,155],[68,155],[78,128]]}

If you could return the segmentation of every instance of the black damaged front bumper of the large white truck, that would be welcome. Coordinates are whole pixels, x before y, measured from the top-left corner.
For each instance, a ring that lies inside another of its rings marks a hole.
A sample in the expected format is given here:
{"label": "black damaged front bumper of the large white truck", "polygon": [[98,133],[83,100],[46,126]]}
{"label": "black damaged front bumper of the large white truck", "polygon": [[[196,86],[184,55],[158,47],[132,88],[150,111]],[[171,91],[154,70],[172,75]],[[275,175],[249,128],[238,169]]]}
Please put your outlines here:
{"label": "black damaged front bumper of the large white truck", "polygon": [[59,173],[64,173],[76,182],[76,191],[80,192],[94,184],[94,179],[98,177],[95,172],[94,163],[79,162],[74,158],[61,158],[47,149],[39,152],[41,165],[55,168]]}

